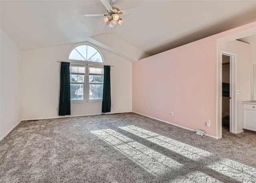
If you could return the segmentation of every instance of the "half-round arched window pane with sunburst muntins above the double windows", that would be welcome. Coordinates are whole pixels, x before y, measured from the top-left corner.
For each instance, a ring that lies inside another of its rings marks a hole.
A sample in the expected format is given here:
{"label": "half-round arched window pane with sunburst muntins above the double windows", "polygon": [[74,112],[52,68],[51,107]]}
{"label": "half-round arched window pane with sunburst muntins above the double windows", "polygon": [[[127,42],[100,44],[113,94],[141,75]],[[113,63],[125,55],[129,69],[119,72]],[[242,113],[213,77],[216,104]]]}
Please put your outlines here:
{"label": "half-round arched window pane with sunburst muntins above the double windows", "polygon": [[70,60],[83,60],[89,62],[104,62],[100,51],[89,44],[80,44],[74,47],[68,59]]}

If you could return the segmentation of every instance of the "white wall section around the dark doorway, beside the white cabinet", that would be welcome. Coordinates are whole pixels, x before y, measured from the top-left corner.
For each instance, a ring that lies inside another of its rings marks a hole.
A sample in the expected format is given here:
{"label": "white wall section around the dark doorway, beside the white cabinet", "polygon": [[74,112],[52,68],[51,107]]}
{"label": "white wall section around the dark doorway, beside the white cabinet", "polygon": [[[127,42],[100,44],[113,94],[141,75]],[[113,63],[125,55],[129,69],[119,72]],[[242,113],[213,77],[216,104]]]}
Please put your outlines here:
{"label": "white wall section around the dark doorway, beside the white cabinet", "polygon": [[237,54],[237,131],[243,131],[242,102],[251,100],[252,86],[252,46],[241,41],[222,43],[220,50]]}

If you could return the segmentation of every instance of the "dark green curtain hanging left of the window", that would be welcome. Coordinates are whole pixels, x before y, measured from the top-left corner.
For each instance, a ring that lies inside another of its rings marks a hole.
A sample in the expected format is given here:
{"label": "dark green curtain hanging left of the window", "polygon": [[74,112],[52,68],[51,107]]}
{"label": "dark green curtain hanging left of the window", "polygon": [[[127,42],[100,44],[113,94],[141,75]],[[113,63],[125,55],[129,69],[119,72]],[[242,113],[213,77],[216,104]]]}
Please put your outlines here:
{"label": "dark green curtain hanging left of the window", "polygon": [[70,71],[69,62],[60,66],[60,103],[59,115],[70,115]]}

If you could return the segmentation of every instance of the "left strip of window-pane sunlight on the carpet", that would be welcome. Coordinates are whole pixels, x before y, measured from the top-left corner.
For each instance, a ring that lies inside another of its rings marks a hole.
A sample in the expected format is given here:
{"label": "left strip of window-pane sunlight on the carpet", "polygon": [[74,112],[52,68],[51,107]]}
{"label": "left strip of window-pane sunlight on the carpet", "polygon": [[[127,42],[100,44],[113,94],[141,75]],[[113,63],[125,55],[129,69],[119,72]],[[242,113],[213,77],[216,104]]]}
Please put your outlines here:
{"label": "left strip of window-pane sunlight on the carpet", "polygon": [[174,159],[167,157],[153,149],[142,145],[112,129],[92,131],[116,149],[128,156],[132,161],[138,163],[146,171],[154,175],[162,175],[168,171],[183,167]]}

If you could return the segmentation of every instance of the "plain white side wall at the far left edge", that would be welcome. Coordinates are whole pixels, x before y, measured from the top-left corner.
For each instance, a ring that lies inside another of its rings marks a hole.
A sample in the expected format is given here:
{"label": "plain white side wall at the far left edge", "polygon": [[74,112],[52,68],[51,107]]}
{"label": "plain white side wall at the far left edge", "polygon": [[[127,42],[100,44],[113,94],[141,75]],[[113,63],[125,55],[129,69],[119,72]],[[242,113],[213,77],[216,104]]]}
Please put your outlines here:
{"label": "plain white side wall at the far left edge", "polygon": [[0,140],[21,118],[21,62],[20,48],[1,29],[0,49]]}

